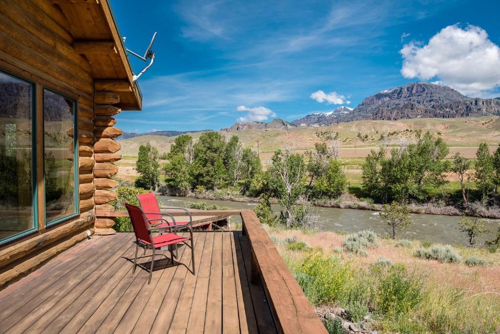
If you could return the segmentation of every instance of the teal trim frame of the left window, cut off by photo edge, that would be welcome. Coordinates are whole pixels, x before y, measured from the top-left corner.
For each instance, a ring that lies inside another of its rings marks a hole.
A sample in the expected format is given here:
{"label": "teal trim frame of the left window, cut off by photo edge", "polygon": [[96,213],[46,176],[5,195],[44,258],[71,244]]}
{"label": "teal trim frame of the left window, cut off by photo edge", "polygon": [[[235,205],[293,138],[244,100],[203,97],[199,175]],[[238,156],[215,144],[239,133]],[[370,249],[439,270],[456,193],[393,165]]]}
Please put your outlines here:
{"label": "teal trim frame of the left window, cut off by photo edge", "polygon": [[39,149],[36,147],[36,84],[32,81],[26,80],[24,78],[21,78],[13,73],[7,72],[7,71],[2,71],[0,69],[0,72],[8,75],[10,77],[13,77],[15,79],[24,81],[25,83],[29,84],[31,86],[31,179],[33,181],[33,184],[31,186],[31,207],[32,207],[32,215],[33,215],[33,227],[16,233],[9,235],[8,237],[5,237],[3,239],[0,239],[0,245],[3,245],[5,243],[8,243],[10,241],[19,239],[25,235],[31,234],[33,232],[38,231],[38,183],[36,182],[36,153],[37,150]]}

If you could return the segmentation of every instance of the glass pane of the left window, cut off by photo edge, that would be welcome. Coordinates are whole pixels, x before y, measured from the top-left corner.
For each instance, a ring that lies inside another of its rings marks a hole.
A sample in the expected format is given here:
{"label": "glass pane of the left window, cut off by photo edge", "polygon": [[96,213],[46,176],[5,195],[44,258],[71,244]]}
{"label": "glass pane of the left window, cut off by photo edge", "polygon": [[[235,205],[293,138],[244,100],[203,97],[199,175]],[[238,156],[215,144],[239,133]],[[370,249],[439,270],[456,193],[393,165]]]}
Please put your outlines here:
{"label": "glass pane of the left window, cut off by photo edge", "polygon": [[0,72],[0,241],[33,229],[33,85]]}

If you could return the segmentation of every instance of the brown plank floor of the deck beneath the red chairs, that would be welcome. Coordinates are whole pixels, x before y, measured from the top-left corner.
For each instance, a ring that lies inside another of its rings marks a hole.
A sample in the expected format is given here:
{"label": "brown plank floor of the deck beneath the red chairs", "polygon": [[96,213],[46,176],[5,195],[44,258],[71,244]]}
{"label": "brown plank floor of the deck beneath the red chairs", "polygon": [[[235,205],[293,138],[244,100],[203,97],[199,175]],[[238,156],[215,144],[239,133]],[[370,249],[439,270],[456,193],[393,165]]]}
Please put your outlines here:
{"label": "brown plank floor of the deck beneath the red chairs", "polygon": [[[247,237],[194,239],[196,275],[182,247],[178,264],[157,256],[148,285],[146,269],[132,274],[133,233],[94,236],[0,291],[0,332],[276,332],[265,289],[251,283]],[[138,263],[147,268],[150,254]]]}

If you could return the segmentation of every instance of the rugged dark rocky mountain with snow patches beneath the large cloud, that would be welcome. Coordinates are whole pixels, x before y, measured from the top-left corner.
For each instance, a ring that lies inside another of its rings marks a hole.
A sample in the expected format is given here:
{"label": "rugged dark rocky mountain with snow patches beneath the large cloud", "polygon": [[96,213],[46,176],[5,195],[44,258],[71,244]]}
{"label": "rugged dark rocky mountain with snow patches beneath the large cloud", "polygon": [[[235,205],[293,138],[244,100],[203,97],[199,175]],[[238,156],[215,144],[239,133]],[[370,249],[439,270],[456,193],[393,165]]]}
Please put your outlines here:
{"label": "rugged dark rocky mountain with snow patches beneath the large cloud", "polygon": [[[322,119],[316,117],[316,120],[307,115],[292,123],[324,126],[356,120],[395,121],[488,115],[500,115],[500,98],[470,98],[446,86],[417,82],[378,92],[365,98],[359,106],[348,113],[332,113]],[[313,123],[314,121],[316,123]]]}

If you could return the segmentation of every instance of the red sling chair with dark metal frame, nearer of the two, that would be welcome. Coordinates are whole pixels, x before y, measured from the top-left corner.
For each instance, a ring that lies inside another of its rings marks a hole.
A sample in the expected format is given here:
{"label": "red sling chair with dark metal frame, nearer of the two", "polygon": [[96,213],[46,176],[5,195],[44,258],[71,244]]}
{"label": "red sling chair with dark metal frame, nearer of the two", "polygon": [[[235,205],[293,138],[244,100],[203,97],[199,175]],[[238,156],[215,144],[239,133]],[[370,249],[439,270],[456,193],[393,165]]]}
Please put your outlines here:
{"label": "red sling chair with dark metal frame, nearer of the two", "polygon": [[[128,215],[130,216],[130,220],[132,222],[133,232],[135,233],[135,258],[133,260],[133,269],[132,274],[135,272],[135,267],[137,266],[137,251],[139,250],[139,245],[144,248],[144,253],[146,248],[151,248],[153,250],[153,255],[151,258],[151,267],[149,268],[149,278],[147,280],[147,284],[151,282],[151,274],[153,271],[154,264],[154,253],[156,249],[160,249],[164,246],[177,245],[178,243],[184,243],[187,247],[191,248],[191,263],[192,263],[192,274],[194,275],[194,244],[192,239],[192,228],[188,225],[176,224],[175,219],[170,216],[172,219],[172,224],[167,222],[163,218],[154,218],[157,220],[156,224],[150,225],[148,223],[148,219],[146,218],[146,214],[142,209],[138,206],[124,203],[125,207],[128,211]],[[160,224],[167,223],[167,226],[158,227]],[[187,228],[189,230],[189,237],[183,237],[177,235],[175,231],[178,228]],[[164,233],[160,235],[152,235],[151,231],[153,230],[162,230],[168,229],[169,231],[173,230],[173,232]],[[190,245],[186,242],[190,241]],[[165,257],[167,257],[165,255]],[[168,257],[167,257],[168,258]],[[170,258],[173,264],[173,252],[170,249]]]}

